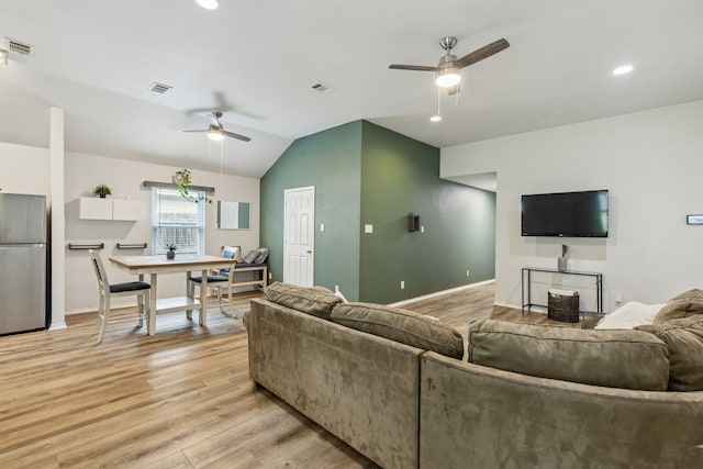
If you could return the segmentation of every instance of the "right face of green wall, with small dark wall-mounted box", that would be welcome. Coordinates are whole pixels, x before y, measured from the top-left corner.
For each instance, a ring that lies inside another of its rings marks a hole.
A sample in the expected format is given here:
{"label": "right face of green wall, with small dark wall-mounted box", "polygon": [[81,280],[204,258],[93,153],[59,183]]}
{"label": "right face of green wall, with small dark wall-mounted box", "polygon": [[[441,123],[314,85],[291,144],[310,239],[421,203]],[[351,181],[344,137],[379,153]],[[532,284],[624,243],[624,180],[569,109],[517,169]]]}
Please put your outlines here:
{"label": "right face of green wall, with small dark wall-mounted box", "polygon": [[[390,303],[494,278],[495,194],[439,179],[438,148],[369,122],[362,129],[361,227],[373,233],[360,232],[361,300]],[[424,233],[409,232],[410,212]]]}

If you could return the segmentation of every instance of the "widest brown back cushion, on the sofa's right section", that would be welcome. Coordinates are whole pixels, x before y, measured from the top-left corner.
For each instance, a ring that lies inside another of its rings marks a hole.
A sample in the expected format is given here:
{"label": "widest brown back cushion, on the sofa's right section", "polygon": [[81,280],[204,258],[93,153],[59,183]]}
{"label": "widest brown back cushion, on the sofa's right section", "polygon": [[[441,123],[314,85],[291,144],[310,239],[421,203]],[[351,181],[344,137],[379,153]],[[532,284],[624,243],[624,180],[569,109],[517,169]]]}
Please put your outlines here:
{"label": "widest brown back cushion, on the sofa's right section", "polygon": [[479,320],[469,324],[469,361],[540,378],[665,391],[663,342],[640,331],[592,331]]}

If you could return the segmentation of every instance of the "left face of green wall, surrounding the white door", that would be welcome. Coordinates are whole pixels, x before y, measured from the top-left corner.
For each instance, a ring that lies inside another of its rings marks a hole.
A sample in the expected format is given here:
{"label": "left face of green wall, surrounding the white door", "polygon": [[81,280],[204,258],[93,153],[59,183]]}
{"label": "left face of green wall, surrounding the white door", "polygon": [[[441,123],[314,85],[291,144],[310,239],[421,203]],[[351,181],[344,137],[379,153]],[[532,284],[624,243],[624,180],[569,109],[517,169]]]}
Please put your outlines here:
{"label": "left face of green wall, surrounding the white door", "polygon": [[297,139],[261,178],[261,245],[271,249],[274,280],[283,277],[283,191],[314,186],[314,283],[358,300],[360,165],[356,121]]}

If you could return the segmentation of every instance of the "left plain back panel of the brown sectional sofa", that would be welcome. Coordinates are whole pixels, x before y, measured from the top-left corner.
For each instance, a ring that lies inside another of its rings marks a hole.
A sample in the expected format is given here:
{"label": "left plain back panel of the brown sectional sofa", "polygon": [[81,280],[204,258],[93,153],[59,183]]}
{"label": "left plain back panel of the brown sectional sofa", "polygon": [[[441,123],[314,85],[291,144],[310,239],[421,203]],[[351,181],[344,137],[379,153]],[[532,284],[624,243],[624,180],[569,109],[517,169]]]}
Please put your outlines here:
{"label": "left plain back panel of the brown sectional sofa", "polygon": [[381,467],[417,467],[424,350],[263,299],[246,326],[256,382]]}

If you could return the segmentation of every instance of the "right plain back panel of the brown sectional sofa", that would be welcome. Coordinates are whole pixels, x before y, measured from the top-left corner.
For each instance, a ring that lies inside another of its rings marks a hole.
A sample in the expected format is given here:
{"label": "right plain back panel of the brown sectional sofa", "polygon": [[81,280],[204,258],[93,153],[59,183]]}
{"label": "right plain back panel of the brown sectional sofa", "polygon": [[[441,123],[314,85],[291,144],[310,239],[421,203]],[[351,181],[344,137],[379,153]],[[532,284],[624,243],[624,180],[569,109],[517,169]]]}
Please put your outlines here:
{"label": "right plain back panel of the brown sectional sofa", "polygon": [[421,359],[420,468],[695,467],[700,445],[703,392],[535,378],[434,353]]}

